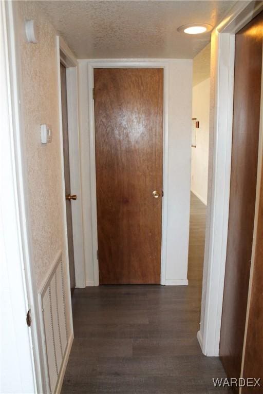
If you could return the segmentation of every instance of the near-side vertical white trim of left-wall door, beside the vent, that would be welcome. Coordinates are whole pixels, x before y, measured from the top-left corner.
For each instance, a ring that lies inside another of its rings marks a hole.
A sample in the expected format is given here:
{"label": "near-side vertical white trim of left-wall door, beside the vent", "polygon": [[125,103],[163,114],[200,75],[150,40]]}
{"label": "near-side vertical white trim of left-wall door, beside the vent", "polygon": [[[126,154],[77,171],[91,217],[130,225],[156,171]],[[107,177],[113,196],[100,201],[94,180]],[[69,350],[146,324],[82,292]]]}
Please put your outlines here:
{"label": "near-side vertical white trim of left-wall door, beside the vent", "polygon": [[68,259],[68,237],[67,237],[67,214],[66,214],[66,200],[65,200],[65,179],[64,179],[64,156],[63,156],[63,128],[62,128],[62,108],[61,108],[61,79],[60,79],[60,37],[56,36],[57,46],[57,72],[58,72],[58,89],[59,89],[59,118],[60,118],[60,159],[61,159],[61,182],[62,182],[62,210],[63,210],[63,229],[64,229],[64,262],[66,267],[65,276],[65,292],[66,292],[66,309],[69,313],[70,331],[73,332],[72,319],[72,305],[70,293],[70,278],[69,278],[69,259]]}

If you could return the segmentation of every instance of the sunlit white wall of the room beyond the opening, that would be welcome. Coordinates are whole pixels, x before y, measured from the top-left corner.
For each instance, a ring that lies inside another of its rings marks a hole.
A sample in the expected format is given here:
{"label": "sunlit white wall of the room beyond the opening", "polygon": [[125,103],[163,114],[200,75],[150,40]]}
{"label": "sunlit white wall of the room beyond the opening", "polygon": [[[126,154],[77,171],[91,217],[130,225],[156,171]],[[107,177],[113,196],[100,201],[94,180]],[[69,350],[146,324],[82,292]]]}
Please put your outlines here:
{"label": "sunlit white wall of the room beyond the opening", "polygon": [[208,194],[210,78],[193,87],[192,117],[199,121],[192,147],[191,190],[206,205]]}

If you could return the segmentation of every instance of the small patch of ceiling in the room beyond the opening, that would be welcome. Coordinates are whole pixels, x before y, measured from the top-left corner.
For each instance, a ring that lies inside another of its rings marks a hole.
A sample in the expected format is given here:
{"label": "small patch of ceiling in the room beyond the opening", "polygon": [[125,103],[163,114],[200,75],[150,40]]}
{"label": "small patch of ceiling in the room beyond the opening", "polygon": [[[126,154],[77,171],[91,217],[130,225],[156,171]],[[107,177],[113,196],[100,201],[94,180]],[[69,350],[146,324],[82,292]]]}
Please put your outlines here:
{"label": "small patch of ceiling in the room beyond the opening", "polygon": [[211,44],[209,43],[199,52],[193,61],[193,86],[210,77]]}

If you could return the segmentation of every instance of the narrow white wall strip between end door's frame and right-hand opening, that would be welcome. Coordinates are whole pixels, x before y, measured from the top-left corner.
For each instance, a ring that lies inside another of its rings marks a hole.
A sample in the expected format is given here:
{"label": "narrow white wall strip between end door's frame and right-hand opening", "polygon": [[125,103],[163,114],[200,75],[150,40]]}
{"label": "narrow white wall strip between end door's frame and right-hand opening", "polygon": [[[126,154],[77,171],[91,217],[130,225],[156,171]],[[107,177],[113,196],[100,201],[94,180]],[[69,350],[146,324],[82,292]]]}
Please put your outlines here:
{"label": "narrow white wall strip between end door's frame and right-hand opening", "polygon": [[170,61],[166,284],[183,284],[187,279],[191,107],[192,61]]}

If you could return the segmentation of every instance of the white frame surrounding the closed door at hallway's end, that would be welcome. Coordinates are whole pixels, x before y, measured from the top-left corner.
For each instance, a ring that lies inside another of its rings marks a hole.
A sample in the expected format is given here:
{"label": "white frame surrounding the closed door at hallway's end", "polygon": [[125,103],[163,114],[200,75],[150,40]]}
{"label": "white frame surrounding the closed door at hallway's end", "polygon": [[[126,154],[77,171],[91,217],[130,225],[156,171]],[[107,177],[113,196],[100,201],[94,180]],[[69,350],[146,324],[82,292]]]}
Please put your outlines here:
{"label": "white frame surrounding the closed door at hallway's end", "polygon": [[92,260],[94,286],[99,285],[99,264],[97,257],[97,192],[96,192],[96,161],[95,161],[95,122],[93,101],[93,70],[95,68],[163,68],[163,201],[162,201],[162,246],[161,246],[161,278],[165,285],[166,277],[166,240],[167,240],[167,212],[168,212],[168,62],[158,59],[145,61],[130,60],[95,60],[88,62],[88,107],[89,107],[89,146],[90,146],[90,184],[91,184],[91,222],[92,222]]}

